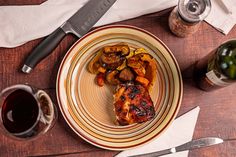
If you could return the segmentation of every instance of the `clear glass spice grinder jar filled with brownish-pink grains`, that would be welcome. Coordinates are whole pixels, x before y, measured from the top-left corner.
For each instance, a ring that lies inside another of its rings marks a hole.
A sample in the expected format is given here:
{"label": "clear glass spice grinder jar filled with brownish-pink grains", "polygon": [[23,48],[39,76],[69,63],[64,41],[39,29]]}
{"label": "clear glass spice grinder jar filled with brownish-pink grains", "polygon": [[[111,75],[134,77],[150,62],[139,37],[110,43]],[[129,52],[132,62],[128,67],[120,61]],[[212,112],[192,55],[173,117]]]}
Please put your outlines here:
{"label": "clear glass spice grinder jar filled with brownish-pink grains", "polygon": [[169,16],[170,30],[178,37],[194,34],[210,10],[210,0],[179,0]]}

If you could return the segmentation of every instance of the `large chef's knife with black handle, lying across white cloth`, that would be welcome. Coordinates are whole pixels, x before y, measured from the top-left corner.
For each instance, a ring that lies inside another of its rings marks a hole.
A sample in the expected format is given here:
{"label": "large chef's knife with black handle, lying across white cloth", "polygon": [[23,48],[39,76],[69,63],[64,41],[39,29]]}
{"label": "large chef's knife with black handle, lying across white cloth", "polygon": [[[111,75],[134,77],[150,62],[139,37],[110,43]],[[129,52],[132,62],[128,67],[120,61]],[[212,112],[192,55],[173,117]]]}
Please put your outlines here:
{"label": "large chef's knife with black handle, lying across white cloth", "polygon": [[89,0],[30,53],[21,70],[30,73],[41,60],[52,53],[66,34],[72,33],[81,38],[115,2],[116,0]]}

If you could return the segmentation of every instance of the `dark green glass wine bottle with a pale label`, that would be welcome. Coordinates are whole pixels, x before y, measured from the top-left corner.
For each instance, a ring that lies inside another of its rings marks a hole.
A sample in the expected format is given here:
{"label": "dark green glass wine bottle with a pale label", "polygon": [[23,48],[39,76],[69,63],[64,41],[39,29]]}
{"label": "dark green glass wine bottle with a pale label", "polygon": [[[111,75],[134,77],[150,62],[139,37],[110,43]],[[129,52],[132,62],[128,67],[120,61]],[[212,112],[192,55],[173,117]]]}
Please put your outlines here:
{"label": "dark green glass wine bottle with a pale label", "polygon": [[236,82],[236,39],[229,40],[199,60],[194,79],[205,91],[222,88]]}

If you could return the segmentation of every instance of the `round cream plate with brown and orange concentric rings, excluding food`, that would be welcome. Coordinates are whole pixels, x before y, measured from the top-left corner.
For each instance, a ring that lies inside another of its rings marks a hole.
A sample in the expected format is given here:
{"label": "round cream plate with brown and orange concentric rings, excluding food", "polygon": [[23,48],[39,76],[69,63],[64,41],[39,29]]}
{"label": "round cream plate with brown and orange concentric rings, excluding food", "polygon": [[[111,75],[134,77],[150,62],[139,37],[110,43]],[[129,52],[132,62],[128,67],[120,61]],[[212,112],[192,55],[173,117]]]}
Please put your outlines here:
{"label": "round cream plate with brown and orange concentric rings, excluding food", "polygon": [[[157,61],[157,79],[151,91],[153,120],[117,126],[113,111],[115,87],[99,87],[87,64],[96,52],[120,42],[145,48]],[[57,76],[57,99],[71,129],[87,142],[110,150],[124,150],[159,136],[174,120],[183,94],[181,73],[170,50],[151,33],[132,26],[96,29],[78,40],[65,55]]]}

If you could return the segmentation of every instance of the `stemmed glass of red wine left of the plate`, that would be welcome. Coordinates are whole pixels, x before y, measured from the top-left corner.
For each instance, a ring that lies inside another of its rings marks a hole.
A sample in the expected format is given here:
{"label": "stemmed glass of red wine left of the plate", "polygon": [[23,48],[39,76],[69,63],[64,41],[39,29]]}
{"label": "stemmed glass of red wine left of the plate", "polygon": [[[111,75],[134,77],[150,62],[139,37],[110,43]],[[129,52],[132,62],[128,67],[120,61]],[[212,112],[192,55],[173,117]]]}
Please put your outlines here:
{"label": "stemmed glass of red wine left of the plate", "polygon": [[34,139],[46,133],[57,119],[49,95],[30,85],[17,84],[0,93],[0,128],[14,139]]}

